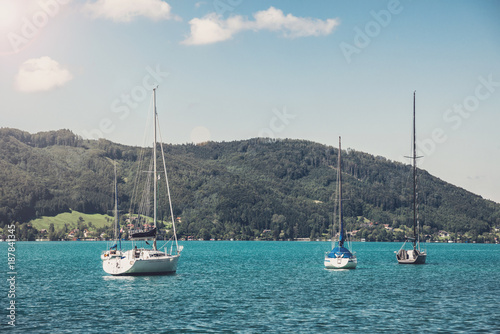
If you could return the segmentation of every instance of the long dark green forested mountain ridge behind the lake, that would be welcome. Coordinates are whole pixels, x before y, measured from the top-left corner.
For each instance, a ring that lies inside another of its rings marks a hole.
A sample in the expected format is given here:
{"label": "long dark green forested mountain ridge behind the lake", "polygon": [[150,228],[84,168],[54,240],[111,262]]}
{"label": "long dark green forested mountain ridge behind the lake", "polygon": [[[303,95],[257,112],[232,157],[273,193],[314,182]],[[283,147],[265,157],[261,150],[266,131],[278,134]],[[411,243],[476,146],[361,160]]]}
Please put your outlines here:
{"label": "long dark green forested mountain ridge behind the lake", "polygon": [[[337,148],[304,140],[250,139],[164,145],[164,150],[181,237],[288,239],[328,233]],[[109,212],[114,162],[120,208],[128,211],[140,156],[141,148],[83,140],[69,130],[29,134],[0,129],[0,227],[70,209]],[[410,166],[348,150],[342,173],[348,228],[361,229],[369,240],[402,238],[399,228],[411,225]],[[476,240],[500,226],[500,204],[423,170],[419,189],[420,221],[428,235],[446,230]],[[160,189],[160,201],[165,198]],[[167,206],[159,216],[168,218]]]}

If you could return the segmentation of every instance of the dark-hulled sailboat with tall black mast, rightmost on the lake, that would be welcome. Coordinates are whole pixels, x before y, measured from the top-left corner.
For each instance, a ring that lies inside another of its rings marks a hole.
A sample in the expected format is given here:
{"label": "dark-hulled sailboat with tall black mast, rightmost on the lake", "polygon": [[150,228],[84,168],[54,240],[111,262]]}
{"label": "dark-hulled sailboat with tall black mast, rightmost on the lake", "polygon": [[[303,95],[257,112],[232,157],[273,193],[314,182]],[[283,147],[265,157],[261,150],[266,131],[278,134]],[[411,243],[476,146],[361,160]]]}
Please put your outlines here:
{"label": "dark-hulled sailboat with tall black mast, rightmost on the lake", "polygon": [[[415,127],[415,92],[413,92],[413,237],[406,237],[403,246],[396,253],[400,264],[425,264],[427,253],[420,248],[420,224],[417,213],[417,145]],[[407,249],[407,244],[413,247]]]}

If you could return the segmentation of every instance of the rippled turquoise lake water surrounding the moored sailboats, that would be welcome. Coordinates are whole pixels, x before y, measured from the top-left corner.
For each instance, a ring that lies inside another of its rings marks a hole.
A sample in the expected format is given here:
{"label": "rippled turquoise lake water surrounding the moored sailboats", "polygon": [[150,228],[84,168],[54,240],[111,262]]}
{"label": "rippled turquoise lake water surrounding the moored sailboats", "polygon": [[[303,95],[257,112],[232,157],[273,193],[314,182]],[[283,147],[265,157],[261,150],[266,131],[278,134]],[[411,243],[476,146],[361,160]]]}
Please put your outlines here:
{"label": "rippled turquoise lake water surrounding the moored sailboats", "polygon": [[498,333],[500,245],[427,244],[399,265],[399,243],[353,243],[355,270],[323,269],[328,242],[184,242],[177,274],[112,277],[105,242],[16,243],[22,333]]}

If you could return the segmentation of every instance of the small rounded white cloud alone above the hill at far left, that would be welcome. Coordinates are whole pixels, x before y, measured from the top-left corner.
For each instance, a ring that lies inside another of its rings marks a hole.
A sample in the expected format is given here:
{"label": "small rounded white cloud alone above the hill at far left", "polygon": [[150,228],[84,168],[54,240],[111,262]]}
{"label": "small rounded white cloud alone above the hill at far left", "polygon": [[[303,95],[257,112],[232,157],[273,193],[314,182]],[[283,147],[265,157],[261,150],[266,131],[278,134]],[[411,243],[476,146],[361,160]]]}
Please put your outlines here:
{"label": "small rounded white cloud alone above the hill at far left", "polygon": [[73,75],[50,57],[25,61],[15,78],[15,86],[21,92],[48,91],[63,86]]}

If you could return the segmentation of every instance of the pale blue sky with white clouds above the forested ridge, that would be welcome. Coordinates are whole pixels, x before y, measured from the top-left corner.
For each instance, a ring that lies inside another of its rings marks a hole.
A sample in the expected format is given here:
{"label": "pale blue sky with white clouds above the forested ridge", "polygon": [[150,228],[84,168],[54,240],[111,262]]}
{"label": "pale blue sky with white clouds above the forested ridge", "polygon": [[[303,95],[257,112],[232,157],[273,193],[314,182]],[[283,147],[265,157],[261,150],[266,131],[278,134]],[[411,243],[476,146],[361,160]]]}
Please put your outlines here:
{"label": "pale blue sky with white clouds above the forested ridge", "polygon": [[0,0],[0,126],[307,139],[500,202],[500,2]]}

